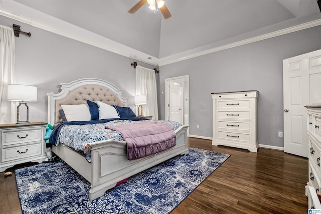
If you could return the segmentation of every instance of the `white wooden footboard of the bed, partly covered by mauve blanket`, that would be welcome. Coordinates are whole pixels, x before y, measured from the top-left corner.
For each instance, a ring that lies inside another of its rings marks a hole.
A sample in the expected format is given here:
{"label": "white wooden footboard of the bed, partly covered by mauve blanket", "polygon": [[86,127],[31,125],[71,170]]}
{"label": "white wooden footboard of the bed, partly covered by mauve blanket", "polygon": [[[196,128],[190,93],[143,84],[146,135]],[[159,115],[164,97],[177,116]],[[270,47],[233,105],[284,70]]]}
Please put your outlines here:
{"label": "white wooden footboard of the bed, partly covered by mauve blanket", "polygon": [[181,126],[175,131],[176,146],[148,157],[130,161],[127,159],[126,143],[124,142],[104,140],[90,143],[92,152],[90,200],[103,195],[107,189],[114,187],[120,180],[176,155],[187,154],[187,128],[188,126]]}

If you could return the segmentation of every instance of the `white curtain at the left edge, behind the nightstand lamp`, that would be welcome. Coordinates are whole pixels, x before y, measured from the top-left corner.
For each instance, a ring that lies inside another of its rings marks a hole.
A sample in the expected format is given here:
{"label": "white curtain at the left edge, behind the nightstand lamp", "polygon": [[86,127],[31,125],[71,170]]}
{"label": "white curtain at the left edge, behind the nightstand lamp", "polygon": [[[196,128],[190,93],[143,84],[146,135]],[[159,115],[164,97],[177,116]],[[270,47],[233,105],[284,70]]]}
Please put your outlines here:
{"label": "white curtain at the left edge, behind the nightstand lamp", "polygon": [[8,84],[15,84],[15,35],[0,25],[0,124],[15,123],[16,102],[8,101]]}

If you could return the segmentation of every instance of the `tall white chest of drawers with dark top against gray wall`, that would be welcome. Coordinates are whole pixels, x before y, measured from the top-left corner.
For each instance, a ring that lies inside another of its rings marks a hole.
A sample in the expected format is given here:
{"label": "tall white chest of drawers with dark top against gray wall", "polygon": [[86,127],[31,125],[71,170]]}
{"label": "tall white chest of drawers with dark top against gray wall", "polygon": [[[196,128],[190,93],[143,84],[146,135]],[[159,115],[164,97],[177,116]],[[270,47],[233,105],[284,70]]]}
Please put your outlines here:
{"label": "tall white chest of drawers with dark top against gray wall", "polygon": [[212,93],[212,145],[225,145],[257,152],[257,98],[259,92]]}

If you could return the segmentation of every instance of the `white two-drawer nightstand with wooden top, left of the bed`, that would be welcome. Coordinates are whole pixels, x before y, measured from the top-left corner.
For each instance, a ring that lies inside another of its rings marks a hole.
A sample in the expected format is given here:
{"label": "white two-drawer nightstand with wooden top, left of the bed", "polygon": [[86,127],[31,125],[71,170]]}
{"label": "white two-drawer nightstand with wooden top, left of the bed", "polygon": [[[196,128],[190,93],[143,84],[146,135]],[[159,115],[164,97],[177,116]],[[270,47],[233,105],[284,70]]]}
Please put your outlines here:
{"label": "white two-drawer nightstand with wooden top, left of the bed", "polygon": [[46,125],[44,122],[0,124],[0,172],[20,163],[40,163],[47,157]]}

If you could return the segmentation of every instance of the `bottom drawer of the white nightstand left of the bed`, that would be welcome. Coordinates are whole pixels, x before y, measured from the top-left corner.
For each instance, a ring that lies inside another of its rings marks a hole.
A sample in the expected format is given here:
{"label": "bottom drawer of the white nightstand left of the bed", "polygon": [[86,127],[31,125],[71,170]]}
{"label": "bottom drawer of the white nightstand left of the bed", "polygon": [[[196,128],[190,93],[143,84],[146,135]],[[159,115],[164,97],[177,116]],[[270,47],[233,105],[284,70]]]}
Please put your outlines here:
{"label": "bottom drawer of the white nightstand left of the bed", "polygon": [[41,155],[41,142],[37,144],[1,148],[1,162]]}

